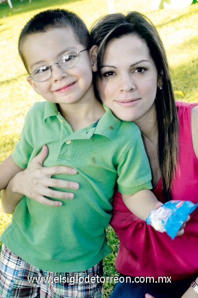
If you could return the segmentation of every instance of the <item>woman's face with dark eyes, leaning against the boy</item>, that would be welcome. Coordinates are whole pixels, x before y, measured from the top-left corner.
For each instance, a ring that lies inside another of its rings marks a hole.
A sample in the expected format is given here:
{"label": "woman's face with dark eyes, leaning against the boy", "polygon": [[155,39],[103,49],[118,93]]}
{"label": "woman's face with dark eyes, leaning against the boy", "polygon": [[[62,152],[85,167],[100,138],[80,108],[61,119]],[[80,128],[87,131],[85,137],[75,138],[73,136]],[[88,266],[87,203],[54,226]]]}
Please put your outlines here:
{"label": "woman's face with dark eyes, leaning against the boy", "polygon": [[104,52],[99,95],[113,113],[140,124],[155,116],[158,73],[146,42],[137,35],[112,39]]}

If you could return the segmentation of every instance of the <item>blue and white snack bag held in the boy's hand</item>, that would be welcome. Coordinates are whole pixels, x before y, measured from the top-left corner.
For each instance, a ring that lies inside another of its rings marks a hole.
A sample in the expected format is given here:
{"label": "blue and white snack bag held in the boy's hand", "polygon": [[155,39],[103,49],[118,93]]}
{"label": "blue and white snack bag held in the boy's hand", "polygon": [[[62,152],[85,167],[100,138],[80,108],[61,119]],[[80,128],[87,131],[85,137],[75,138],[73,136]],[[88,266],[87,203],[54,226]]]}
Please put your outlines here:
{"label": "blue and white snack bag held in the boy's hand", "polygon": [[146,222],[156,231],[166,232],[172,239],[187,220],[198,204],[184,200],[170,200],[160,206],[157,210],[153,209],[148,215]]}

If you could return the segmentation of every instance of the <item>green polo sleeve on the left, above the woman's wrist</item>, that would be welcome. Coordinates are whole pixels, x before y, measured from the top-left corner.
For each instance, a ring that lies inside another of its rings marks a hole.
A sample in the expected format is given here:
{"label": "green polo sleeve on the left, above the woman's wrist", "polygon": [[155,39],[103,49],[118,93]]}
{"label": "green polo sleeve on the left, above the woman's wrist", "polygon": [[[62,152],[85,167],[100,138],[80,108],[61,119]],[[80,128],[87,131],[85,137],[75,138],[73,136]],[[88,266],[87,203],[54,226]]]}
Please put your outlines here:
{"label": "green polo sleeve on the left, above the woman's wrist", "polygon": [[16,144],[14,152],[12,153],[14,162],[23,169],[27,168],[33,152],[30,141],[31,127],[28,127],[28,114],[25,117],[25,124],[20,134],[20,141]]}

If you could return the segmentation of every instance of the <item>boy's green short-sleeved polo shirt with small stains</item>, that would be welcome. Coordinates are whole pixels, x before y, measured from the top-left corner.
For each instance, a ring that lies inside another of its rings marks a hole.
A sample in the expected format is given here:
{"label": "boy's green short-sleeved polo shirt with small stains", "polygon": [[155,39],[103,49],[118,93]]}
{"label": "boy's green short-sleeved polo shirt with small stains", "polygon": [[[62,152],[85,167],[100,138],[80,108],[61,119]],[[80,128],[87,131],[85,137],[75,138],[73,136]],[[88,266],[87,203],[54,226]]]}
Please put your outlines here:
{"label": "boy's green short-sleeved polo shirt with small stains", "polygon": [[[83,271],[109,248],[105,228],[116,182],[123,194],[151,189],[151,174],[138,127],[116,118],[109,108],[99,122],[73,131],[56,104],[37,102],[29,110],[12,157],[26,168],[48,145],[44,166],[67,165],[76,175],[55,175],[80,184],[75,198],[51,207],[23,197],[1,241],[32,265],[54,272]],[[59,189],[69,191],[68,189]]]}

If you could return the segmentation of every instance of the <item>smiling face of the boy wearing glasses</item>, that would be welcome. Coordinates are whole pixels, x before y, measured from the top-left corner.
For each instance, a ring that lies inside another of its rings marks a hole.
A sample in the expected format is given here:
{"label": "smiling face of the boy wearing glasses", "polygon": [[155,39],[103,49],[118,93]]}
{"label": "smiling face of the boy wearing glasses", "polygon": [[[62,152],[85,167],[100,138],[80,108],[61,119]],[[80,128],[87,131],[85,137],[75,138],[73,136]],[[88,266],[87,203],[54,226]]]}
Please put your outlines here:
{"label": "smiling face of the boy wearing glasses", "polygon": [[[44,65],[50,66],[67,52],[84,50],[73,31],[69,28],[53,28],[47,32],[29,35],[22,46],[24,58],[30,73]],[[36,82],[27,78],[33,89],[44,99],[65,104],[86,102],[94,97],[92,84],[92,65],[89,51],[79,54],[78,63],[69,69],[58,64],[51,66],[52,74],[45,82]]]}

